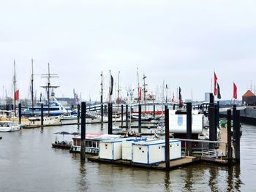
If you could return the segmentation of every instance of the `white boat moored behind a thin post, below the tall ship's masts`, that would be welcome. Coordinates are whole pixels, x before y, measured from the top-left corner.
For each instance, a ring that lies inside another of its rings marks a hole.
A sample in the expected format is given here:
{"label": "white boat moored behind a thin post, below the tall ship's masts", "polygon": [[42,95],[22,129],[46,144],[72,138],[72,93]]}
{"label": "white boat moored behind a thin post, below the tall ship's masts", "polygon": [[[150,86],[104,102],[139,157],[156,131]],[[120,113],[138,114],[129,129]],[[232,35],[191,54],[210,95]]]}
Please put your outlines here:
{"label": "white boat moored behind a thin post, below the tall ship's masts", "polygon": [[[60,124],[61,115],[53,117],[43,117],[43,121],[44,126]],[[29,118],[29,126],[41,126],[41,116]]]}

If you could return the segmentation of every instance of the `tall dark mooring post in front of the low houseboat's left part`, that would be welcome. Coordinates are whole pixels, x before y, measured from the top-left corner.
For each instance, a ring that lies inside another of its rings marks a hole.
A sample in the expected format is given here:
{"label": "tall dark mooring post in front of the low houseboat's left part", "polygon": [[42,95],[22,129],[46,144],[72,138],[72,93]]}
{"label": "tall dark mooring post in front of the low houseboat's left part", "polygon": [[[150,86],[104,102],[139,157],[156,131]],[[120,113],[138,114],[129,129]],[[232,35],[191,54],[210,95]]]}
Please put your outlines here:
{"label": "tall dark mooring post in front of the low houseboat's left part", "polygon": [[82,102],[80,160],[86,161],[86,102]]}

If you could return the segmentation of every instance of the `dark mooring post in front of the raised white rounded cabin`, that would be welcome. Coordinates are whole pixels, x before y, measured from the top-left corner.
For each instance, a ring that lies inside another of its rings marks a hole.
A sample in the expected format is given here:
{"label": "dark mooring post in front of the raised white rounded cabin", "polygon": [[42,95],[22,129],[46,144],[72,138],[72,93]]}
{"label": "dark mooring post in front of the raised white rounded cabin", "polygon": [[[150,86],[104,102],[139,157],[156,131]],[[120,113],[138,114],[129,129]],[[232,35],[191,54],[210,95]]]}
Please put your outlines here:
{"label": "dark mooring post in front of the raised white rounded cabin", "polygon": [[[187,139],[192,139],[192,103],[187,103]],[[187,143],[187,155],[192,155],[192,143]]]}

